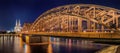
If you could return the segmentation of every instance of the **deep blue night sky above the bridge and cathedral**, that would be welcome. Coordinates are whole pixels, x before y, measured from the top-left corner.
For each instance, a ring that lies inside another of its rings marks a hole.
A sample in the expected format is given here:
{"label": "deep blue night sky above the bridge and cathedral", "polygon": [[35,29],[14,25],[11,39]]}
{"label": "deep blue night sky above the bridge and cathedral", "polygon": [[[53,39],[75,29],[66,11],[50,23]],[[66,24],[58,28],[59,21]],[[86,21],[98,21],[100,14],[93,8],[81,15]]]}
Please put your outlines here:
{"label": "deep blue night sky above the bridge and cathedral", "polygon": [[0,0],[0,30],[11,30],[16,19],[34,22],[43,12],[67,4],[97,4],[120,9],[120,0]]}

